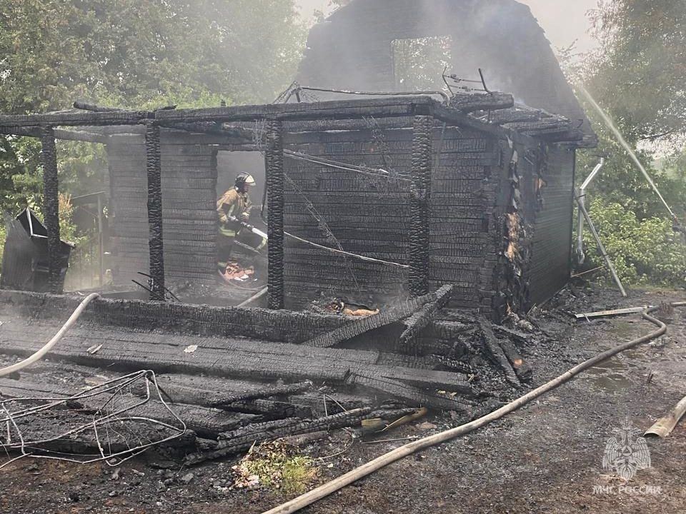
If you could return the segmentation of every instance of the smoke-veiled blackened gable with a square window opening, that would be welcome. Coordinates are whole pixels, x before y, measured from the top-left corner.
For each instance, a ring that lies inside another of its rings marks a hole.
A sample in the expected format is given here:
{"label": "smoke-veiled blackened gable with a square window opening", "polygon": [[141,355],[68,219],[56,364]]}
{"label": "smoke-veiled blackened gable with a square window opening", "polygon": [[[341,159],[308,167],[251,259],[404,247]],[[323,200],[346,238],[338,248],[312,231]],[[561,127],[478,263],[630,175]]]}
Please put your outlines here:
{"label": "smoke-veiled blackened gable with a square window opening", "polygon": [[[312,28],[297,81],[352,91],[407,91],[399,43],[419,39],[437,40],[429,57],[443,61],[449,74],[479,79],[482,69],[489,89],[562,114],[595,146],[595,134],[543,29],[529,7],[515,0],[352,0]],[[423,63],[413,64],[415,73],[422,71]],[[438,87],[440,70],[426,70]]]}

